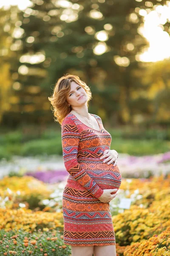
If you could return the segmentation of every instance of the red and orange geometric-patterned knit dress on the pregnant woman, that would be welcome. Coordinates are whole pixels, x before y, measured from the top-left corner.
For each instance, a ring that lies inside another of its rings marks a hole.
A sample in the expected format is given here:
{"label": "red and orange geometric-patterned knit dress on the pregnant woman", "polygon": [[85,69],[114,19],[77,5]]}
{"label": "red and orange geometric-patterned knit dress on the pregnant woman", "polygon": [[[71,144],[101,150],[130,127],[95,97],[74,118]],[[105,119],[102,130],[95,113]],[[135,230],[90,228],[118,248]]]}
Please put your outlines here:
{"label": "red and orange geometric-patterned knit dress on the pregnant woman", "polygon": [[[118,166],[100,160],[110,149],[111,134],[102,119],[93,115],[97,131],[69,113],[62,121],[62,151],[69,172],[62,195],[64,244],[93,246],[116,244],[109,203],[98,198],[103,189],[119,189],[122,176]],[[113,199],[114,200],[114,199]]]}

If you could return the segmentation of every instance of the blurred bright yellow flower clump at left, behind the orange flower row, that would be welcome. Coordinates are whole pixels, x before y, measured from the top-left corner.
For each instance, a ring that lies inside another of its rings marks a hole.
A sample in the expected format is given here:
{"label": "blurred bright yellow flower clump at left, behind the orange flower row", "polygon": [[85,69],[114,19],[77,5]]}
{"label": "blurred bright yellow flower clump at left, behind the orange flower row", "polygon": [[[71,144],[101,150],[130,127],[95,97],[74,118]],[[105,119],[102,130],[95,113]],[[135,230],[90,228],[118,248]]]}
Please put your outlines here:
{"label": "blurred bright yellow flower clump at left, behind the orange flower row", "polygon": [[40,204],[49,198],[53,189],[33,177],[4,177],[0,180],[0,208],[43,209]]}

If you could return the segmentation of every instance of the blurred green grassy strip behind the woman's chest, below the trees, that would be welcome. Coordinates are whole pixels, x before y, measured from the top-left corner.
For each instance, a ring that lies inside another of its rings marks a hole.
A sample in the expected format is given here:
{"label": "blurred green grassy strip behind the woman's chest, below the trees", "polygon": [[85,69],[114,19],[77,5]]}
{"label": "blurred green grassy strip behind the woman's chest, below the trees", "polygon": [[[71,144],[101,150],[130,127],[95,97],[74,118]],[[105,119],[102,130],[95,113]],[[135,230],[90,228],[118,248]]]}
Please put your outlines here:
{"label": "blurred green grassy strip behind the woman's chest, below the trees", "polygon": [[[112,136],[111,149],[130,155],[159,154],[170,150],[170,130],[139,130],[134,128],[107,129]],[[16,136],[16,137],[15,137]],[[26,136],[26,138],[25,138]],[[0,135],[0,159],[12,155],[60,155],[62,156],[61,131],[49,128],[37,138],[21,131]]]}

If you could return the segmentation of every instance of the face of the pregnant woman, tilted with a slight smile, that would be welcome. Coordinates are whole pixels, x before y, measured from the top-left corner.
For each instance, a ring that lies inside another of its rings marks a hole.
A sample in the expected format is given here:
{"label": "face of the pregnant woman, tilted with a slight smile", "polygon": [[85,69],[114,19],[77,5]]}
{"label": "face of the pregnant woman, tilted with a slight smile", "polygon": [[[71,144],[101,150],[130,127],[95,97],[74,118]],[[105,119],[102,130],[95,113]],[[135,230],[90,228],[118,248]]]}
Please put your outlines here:
{"label": "face of the pregnant woman, tilted with a slight smile", "polygon": [[81,85],[72,81],[70,91],[66,96],[66,100],[71,105],[71,107],[79,107],[87,102],[88,95]]}

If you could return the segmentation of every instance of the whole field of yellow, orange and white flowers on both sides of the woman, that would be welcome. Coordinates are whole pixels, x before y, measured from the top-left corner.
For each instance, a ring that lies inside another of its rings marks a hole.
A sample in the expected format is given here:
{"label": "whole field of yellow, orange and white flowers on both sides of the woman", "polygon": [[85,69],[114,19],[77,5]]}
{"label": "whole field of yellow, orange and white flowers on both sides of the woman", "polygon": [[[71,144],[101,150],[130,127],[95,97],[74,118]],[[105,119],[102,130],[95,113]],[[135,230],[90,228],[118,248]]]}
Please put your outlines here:
{"label": "whole field of yellow, orange and white flowers on both sides of the woman", "polygon": [[[28,176],[0,180],[2,255],[23,255],[24,251],[26,255],[35,256],[71,254],[70,247],[62,241],[64,186],[62,182],[45,184]],[[125,197],[132,203],[130,209],[124,210],[119,203]],[[169,205],[170,176],[123,179],[118,195],[110,202],[117,256],[167,256],[170,250]],[[59,233],[52,235],[54,232]],[[57,236],[58,244],[51,240],[53,236]],[[39,243],[35,243],[36,237]],[[27,246],[23,240],[28,240]]]}

